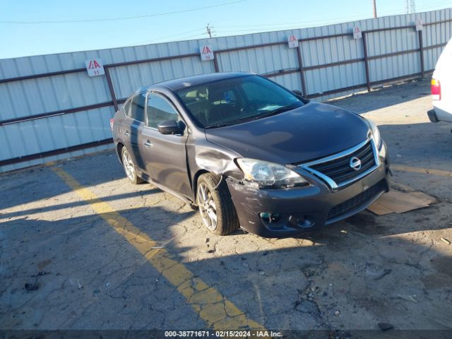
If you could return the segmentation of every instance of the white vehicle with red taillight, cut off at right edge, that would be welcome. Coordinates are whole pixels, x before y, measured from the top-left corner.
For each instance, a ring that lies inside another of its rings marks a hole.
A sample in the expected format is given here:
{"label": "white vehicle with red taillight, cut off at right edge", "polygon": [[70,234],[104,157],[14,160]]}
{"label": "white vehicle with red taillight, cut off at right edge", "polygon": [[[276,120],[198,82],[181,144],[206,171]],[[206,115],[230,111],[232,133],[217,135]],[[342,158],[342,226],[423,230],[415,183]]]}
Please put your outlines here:
{"label": "white vehicle with red taillight, cut off at right edge", "polygon": [[436,62],[432,76],[433,109],[429,110],[432,122],[452,122],[452,39],[446,44]]}

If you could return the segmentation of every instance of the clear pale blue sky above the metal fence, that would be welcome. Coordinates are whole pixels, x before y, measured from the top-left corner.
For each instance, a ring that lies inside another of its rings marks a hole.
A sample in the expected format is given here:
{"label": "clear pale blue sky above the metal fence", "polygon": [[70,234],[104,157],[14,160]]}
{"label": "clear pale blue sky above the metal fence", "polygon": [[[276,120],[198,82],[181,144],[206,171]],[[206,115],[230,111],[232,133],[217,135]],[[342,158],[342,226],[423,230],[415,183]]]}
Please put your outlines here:
{"label": "clear pale blue sky above the metal fence", "polygon": [[[376,0],[378,16],[406,0]],[[417,12],[452,0],[415,0]],[[372,0],[0,0],[0,59],[243,35],[343,23],[373,15]]]}

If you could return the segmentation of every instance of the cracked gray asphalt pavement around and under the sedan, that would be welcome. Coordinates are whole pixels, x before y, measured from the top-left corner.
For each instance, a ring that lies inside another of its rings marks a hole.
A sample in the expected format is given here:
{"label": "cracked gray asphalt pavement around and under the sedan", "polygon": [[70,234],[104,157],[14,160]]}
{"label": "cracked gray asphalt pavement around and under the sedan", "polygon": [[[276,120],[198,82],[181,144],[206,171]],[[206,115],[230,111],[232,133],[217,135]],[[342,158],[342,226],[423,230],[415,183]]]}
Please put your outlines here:
{"label": "cracked gray asphalt pavement around and under the sedan", "polygon": [[[452,125],[428,121],[428,81],[332,103],[379,124],[393,165],[451,171]],[[452,328],[452,245],[441,240],[452,241],[450,177],[395,170],[393,188],[439,202],[403,214],[364,211],[321,232],[264,239],[208,233],[182,201],[150,184],[129,184],[113,152],[55,166],[268,329]],[[151,266],[93,203],[50,167],[0,176],[0,328],[206,328],[185,286]],[[204,295],[199,307],[209,312],[202,303],[215,298]],[[239,315],[218,314],[212,319],[225,324]]]}

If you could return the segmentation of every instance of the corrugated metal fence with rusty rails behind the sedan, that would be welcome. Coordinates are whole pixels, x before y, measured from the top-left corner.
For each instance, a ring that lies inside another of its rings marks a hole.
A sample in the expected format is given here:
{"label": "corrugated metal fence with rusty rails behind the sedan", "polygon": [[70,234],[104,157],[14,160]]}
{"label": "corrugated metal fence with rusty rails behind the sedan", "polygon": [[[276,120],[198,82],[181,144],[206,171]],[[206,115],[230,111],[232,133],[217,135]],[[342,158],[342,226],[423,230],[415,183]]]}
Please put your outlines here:
{"label": "corrugated metal fence with rusty rails behind the sedan", "polygon": [[[423,30],[415,30],[422,19]],[[424,77],[452,36],[452,8],[208,40],[0,60],[0,172],[110,147],[114,109],[142,85],[215,71],[251,71],[326,100]],[[352,29],[362,29],[354,39]],[[297,48],[288,48],[295,35]],[[213,61],[201,61],[209,44]],[[105,76],[88,77],[99,58]]]}

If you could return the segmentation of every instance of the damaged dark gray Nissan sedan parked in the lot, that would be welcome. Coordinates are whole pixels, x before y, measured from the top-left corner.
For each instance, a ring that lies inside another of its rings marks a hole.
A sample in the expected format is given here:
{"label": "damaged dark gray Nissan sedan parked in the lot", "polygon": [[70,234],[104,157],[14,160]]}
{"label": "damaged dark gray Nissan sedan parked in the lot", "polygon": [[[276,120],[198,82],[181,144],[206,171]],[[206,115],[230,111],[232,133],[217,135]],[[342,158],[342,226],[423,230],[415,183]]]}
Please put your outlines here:
{"label": "damaged dark gray Nissan sedan parked in the lot", "polygon": [[197,207],[215,234],[316,230],[389,189],[386,145],[372,121],[249,73],[141,88],[112,131],[130,181]]}

